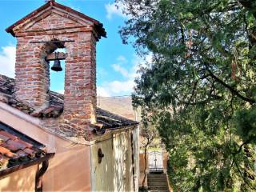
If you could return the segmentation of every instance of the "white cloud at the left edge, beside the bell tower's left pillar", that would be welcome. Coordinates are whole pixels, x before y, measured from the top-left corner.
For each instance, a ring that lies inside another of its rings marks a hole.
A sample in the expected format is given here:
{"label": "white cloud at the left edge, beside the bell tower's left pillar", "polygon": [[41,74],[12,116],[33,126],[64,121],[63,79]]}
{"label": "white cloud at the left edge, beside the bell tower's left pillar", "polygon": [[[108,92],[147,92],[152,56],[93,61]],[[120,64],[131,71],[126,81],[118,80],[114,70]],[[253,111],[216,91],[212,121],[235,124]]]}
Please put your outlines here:
{"label": "white cloud at the left edge, beside the bell tower's left pillar", "polygon": [[0,74],[14,78],[16,47],[2,46],[0,51]]}

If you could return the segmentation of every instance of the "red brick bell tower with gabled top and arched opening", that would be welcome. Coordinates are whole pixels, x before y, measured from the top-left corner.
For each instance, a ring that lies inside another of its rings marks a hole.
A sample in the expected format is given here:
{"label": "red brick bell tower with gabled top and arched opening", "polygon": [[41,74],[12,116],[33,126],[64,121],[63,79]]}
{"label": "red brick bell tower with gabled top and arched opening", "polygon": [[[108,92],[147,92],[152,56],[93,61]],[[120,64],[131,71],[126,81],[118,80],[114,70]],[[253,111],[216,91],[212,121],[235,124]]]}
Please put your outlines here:
{"label": "red brick bell tower with gabled top and arched opening", "polygon": [[35,110],[45,109],[50,102],[46,58],[66,48],[63,122],[76,134],[89,131],[96,121],[96,42],[106,37],[102,23],[52,0],[6,31],[18,41],[15,98]]}

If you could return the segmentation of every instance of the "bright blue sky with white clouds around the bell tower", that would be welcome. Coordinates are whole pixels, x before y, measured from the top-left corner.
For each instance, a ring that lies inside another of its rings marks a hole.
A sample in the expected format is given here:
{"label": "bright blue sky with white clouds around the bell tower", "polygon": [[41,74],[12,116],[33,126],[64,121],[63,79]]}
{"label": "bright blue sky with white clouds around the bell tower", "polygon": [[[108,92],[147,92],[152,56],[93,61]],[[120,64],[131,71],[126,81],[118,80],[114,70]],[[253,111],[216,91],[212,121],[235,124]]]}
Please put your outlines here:
{"label": "bright blue sky with white clouds around the bell tower", "polygon": [[[107,38],[97,44],[97,89],[100,96],[131,94],[138,65],[142,62],[131,45],[123,45],[118,34],[126,16],[110,0],[57,0],[103,23]],[[44,0],[0,0],[0,74],[14,77],[16,39],[5,29],[37,9]],[[120,5],[119,5],[120,6]],[[122,7],[122,5],[121,5]],[[62,92],[64,72],[51,72],[51,90]]]}

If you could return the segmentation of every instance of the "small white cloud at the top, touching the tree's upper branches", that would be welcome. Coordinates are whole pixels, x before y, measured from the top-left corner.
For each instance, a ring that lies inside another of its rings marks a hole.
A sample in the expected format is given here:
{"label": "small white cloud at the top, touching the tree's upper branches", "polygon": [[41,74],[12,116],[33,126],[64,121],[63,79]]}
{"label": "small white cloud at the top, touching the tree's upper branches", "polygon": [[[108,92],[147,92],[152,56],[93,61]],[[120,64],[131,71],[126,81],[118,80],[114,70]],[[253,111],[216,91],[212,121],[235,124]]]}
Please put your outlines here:
{"label": "small white cloud at the top, touching the tree's upper branches", "polygon": [[126,14],[122,13],[124,5],[121,2],[108,3],[105,5],[106,18],[111,19],[113,15],[118,15],[119,17],[126,18]]}

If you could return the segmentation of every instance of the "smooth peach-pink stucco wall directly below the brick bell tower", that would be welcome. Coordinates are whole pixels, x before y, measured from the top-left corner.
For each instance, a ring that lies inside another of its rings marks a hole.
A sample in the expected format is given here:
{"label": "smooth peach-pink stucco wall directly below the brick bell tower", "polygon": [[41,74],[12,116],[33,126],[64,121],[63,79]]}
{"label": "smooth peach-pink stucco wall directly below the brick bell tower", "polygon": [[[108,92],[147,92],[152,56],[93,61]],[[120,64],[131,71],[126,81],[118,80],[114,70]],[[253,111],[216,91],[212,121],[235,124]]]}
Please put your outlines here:
{"label": "smooth peach-pink stucco wall directly below the brick bell tower", "polygon": [[[54,134],[47,133],[46,130],[33,123],[3,110],[1,106],[0,114],[0,121],[46,145],[48,152],[55,153],[43,177],[43,191],[90,190],[90,146],[74,144]],[[24,118],[30,117],[24,114]],[[30,120],[33,120],[34,123],[38,121],[36,118]],[[35,175],[35,172],[33,174]],[[17,175],[16,181],[26,177],[29,177],[29,174],[27,176],[21,175],[20,178]],[[32,184],[34,185],[34,182]]]}

